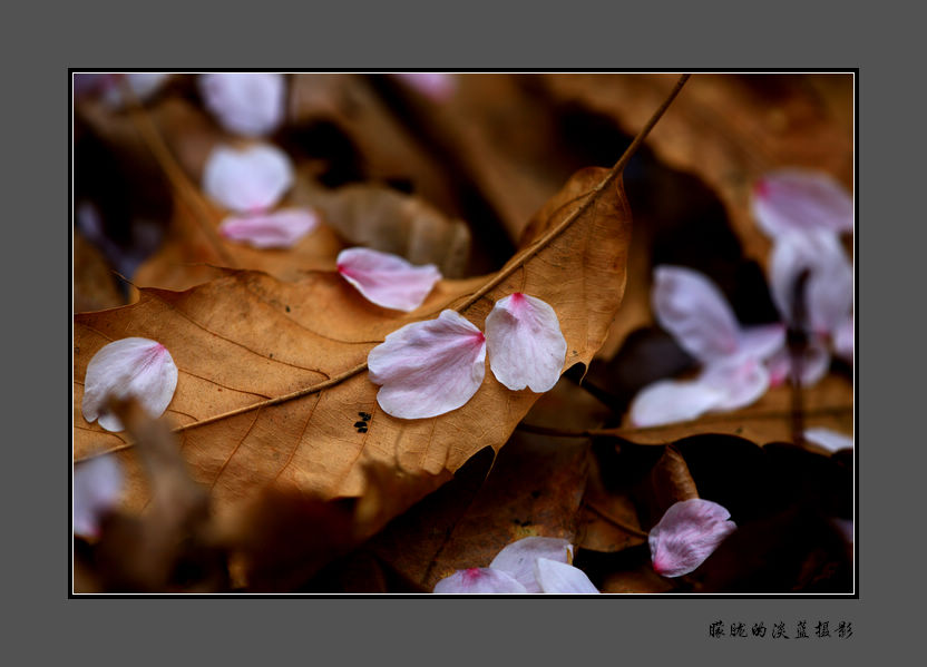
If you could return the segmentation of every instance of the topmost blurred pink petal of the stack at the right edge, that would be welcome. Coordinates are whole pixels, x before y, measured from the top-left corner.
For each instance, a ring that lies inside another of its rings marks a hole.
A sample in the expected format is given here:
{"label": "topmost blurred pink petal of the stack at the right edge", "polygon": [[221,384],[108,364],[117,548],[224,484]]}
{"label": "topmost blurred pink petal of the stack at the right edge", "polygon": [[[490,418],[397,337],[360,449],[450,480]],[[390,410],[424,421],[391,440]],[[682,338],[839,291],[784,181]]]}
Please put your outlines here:
{"label": "topmost blurred pink petal of the stack at the right edge", "polygon": [[789,232],[853,229],[853,200],[830,175],[808,169],[767,174],[753,188],[753,215],[770,237]]}

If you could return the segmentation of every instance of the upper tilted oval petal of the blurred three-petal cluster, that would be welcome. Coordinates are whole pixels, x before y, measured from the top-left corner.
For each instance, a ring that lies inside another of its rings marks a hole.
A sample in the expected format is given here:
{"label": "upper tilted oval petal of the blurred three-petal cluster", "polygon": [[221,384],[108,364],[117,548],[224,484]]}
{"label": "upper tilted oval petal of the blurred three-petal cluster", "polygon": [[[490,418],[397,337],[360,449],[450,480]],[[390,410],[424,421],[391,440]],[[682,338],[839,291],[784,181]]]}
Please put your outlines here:
{"label": "upper tilted oval petal of the blurred three-petal cluster", "polygon": [[736,317],[704,274],[681,266],[657,266],[652,297],[660,325],[697,360],[708,363],[738,350]]}

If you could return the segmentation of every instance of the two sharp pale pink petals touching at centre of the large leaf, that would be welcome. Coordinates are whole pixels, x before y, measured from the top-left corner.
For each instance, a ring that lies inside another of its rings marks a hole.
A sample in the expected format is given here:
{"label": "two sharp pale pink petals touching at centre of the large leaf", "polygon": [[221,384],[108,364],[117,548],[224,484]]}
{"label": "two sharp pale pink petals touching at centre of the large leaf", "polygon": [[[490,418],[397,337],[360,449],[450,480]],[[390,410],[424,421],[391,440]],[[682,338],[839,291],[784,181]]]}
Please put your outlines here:
{"label": "two sharp pale pink petals touching at centre of the large leaf", "polygon": [[486,334],[455,311],[413,322],[370,351],[377,402],[393,416],[423,419],[456,410],[482,384],[489,367],[513,391],[546,392],[559,380],[566,340],[554,308],[521,293],[499,300]]}

